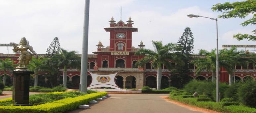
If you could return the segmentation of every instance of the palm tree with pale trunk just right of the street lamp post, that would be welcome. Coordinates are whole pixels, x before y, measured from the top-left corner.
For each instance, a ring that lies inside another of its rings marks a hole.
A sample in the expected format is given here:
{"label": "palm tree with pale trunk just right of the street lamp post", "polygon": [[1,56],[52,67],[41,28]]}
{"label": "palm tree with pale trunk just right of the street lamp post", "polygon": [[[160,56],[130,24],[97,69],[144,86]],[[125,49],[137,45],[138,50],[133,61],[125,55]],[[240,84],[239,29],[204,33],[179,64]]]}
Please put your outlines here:
{"label": "palm tree with pale trunk just right of the street lamp post", "polygon": [[247,62],[250,62],[250,59],[245,58],[246,53],[244,51],[237,51],[236,47],[220,50],[221,58],[227,60],[229,66],[226,67],[229,73],[229,84],[232,85],[232,73],[235,71],[235,65],[247,66]]}

